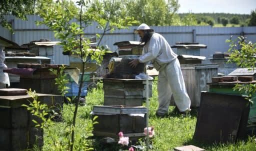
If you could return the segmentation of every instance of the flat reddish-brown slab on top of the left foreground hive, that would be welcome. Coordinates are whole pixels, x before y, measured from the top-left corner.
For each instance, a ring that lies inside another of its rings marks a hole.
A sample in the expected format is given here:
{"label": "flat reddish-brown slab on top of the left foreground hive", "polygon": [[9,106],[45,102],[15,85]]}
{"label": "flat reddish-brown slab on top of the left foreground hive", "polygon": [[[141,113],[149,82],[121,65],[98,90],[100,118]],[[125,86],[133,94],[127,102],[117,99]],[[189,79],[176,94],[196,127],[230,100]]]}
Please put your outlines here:
{"label": "flat reddish-brown slab on top of the left foreground hive", "polygon": [[26,91],[23,88],[1,88],[0,96],[26,95]]}

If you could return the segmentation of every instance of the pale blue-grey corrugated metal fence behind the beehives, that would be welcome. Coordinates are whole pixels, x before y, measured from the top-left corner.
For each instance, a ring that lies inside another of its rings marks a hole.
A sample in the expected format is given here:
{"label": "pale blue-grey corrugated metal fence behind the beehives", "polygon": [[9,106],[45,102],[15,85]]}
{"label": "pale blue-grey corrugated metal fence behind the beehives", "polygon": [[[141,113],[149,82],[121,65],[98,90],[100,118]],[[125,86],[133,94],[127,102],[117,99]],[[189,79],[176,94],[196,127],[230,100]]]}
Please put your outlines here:
{"label": "pale blue-grey corrugated metal fence behind the beehives", "polygon": [[[0,36],[12,40],[18,44],[29,43],[33,40],[42,38],[56,41],[54,33],[48,30],[45,25],[37,26],[35,20],[40,20],[39,16],[28,15],[28,20],[21,20],[13,16],[7,15],[6,18],[11,22],[15,31],[11,34],[7,29],[0,27]],[[97,29],[96,25],[91,25],[86,28],[85,32],[88,36],[95,36],[96,33],[102,33],[102,30]],[[212,58],[215,51],[226,52],[229,48],[229,43],[225,40],[229,39],[231,35],[235,37],[243,35],[248,40],[256,42],[256,26],[251,27],[211,27],[211,26],[150,26],[156,32],[162,34],[170,45],[175,42],[199,42],[207,45],[207,48],[200,49],[200,55],[206,58]],[[133,31],[136,26],[129,26],[128,29],[116,30],[113,33],[106,33],[101,41],[101,45],[107,45],[112,51],[116,51],[117,47],[113,43],[118,41],[139,40],[138,35]],[[61,46],[53,46],[54,63],[69,64],[68,56],[62,55]],[[173,48],[176,52],[176,49]],[[203,63],[210,63],[207,59]]]}

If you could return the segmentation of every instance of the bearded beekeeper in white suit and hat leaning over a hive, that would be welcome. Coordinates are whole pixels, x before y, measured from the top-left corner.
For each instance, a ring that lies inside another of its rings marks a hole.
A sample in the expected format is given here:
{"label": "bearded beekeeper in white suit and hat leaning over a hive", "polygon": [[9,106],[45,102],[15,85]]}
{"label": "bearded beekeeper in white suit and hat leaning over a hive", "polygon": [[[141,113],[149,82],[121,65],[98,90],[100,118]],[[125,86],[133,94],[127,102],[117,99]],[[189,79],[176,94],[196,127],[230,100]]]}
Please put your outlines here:
{"label": "bearded beekeeper in white suit and hat leaning over a hive", "polygon": [[184,114],[189,113],[190,99],[186,92],[180,64],[166,39],[145,23],[140,24],[135,30],[144,42],[142,55],[129,62],[131,67],[136,67],[139,62],[151,61],[158,74],[158,108],[157,116],[163,116],[168,112],[171,95],[173,95],[178,110]]}

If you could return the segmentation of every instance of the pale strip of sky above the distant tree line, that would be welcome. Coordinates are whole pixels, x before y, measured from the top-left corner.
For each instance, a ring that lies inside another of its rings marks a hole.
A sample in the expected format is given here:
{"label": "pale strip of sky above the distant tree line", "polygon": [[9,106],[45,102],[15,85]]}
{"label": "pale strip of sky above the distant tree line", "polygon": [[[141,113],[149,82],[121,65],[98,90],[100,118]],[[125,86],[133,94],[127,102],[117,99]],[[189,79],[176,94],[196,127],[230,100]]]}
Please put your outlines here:
{"label": "pale strip of sky above the distant tree line", "polygon": [[223,12],[250,14],[256,9],[256,0],[178,0],[178,13]]}

